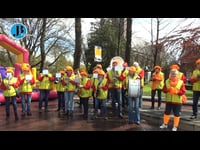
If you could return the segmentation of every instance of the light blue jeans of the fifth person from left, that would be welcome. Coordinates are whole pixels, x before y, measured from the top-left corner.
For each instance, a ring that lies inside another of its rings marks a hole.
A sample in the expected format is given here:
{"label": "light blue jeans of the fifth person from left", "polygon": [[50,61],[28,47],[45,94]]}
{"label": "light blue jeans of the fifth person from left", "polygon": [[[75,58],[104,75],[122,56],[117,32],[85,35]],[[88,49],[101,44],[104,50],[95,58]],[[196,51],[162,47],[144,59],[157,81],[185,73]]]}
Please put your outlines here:
{"label": "light blue jeans of the fifth person from left", "polygon": [[74,111],[74,92],[65,92],[65,111]]}

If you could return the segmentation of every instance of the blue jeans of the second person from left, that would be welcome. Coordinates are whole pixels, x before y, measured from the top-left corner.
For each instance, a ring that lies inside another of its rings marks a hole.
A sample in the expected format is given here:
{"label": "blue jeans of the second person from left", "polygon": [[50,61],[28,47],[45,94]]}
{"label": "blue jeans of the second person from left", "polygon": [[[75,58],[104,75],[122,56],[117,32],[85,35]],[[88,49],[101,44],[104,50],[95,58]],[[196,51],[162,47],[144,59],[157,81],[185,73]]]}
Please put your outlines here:
{"label": "blue jeans of the second person from left", "polygon": [[[22,113],[31,112],[31,98],[32,94],[21,94],[22,97]],[[26,111],[26,100],[27,100],[27,111]]]}

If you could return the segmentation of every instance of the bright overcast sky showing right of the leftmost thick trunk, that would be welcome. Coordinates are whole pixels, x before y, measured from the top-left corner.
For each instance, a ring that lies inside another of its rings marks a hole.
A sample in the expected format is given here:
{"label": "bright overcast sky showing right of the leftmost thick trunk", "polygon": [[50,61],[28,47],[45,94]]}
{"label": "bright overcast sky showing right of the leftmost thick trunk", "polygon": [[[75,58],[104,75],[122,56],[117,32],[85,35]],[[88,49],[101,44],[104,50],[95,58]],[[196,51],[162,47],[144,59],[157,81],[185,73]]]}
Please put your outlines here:
{"label": "bright overcast sky showing right of the leftmost thick trunk", "polygon": [[[90,22],[94,22],[94,18],[82,18],[82,34],[85,37],[90,32]],[[191,24],[193,27],[200,26],[200,18],[163,18],[161,21],[160,38],[166,35],[173,34],[173,29],[178,30],[186,25]],[[138,43],[139,41],[151,40],[151,18],[133,18],[132,22],[132,42]],[[154,32],[156,31],[156,22],[153,22]],[[156,33],[154,33],[156,35]]]}

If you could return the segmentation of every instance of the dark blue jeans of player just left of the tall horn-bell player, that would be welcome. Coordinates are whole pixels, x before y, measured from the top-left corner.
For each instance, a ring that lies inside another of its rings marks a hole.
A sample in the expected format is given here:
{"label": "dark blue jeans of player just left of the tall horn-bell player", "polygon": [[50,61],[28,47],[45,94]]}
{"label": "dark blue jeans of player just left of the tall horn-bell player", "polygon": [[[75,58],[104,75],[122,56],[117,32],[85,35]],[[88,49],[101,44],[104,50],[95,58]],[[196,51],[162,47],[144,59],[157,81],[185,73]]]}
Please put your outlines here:
{"label": "dark blue jeans of player just left of the tall horn-bell player", "polygon": [[101,108],[101,110],[103,110],[103,115],[105,117],[107,114],[106,99],[95,98],[95,111],[94,111],[95,115],[97,114],[99,107]]}

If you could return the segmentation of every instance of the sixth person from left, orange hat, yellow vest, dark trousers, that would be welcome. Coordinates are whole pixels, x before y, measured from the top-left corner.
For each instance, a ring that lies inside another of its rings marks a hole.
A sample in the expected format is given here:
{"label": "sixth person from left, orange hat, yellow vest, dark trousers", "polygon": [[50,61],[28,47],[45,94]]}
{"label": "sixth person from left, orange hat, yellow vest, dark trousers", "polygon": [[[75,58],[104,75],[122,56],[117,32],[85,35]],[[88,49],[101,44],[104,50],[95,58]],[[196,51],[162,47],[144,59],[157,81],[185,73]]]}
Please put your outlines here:
{"label": "sixth person from left, orange hat, yellow vest, dark trousers", "polygon": [[79,97],[80,97],[80,103],[83,104],[83,119],[88,119],[88,100],[89,97],[91,96],[91,83],[90,79],[88,78],[88,74],[85,70],[82,70],[80,72],[81,79],[80,83],[78,85],[79,88]]}

